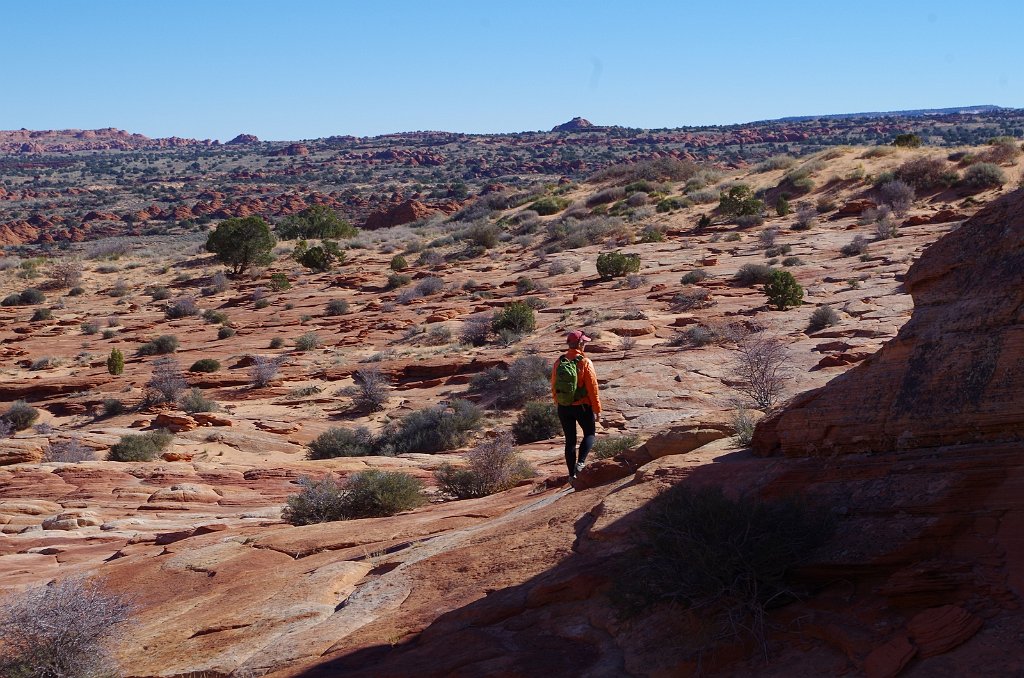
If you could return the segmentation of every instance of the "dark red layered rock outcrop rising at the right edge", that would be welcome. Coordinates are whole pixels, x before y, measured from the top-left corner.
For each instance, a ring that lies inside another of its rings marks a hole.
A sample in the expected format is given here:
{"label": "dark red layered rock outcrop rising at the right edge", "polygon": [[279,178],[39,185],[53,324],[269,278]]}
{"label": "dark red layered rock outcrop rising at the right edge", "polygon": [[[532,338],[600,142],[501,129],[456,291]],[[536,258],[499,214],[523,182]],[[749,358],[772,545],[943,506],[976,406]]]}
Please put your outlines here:
{"label": "dark red layered rock outcrop rising at the right edge", "polygon": [[1024,192],[930,247],[911,320],[882,350],[757,428],[757,454],[1015,440],[1024,420]]}

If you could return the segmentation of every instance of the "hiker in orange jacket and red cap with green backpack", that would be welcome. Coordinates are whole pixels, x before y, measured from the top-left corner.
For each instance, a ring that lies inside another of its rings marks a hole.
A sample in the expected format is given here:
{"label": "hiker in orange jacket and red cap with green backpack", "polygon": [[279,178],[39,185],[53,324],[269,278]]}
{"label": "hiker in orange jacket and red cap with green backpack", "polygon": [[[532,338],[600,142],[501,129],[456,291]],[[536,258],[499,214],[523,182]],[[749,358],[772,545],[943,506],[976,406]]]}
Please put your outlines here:
{"label": "hiker in orange jacket and red cap with green backpack", "polygon": [[[565,466],[569,481],[587,461],[596,438],[596,424],[601,417],[601,398],[597,395],[597,375],[594,364],[584,355],[584,348],[591,340],[583,330],[569,332],[565,338],[569,345],[564,355],[558,356],[551,370],[551,397],[558,406],[558,421],[565,434]],[[575,449],[575,427],[583,428],[580,454]]]}

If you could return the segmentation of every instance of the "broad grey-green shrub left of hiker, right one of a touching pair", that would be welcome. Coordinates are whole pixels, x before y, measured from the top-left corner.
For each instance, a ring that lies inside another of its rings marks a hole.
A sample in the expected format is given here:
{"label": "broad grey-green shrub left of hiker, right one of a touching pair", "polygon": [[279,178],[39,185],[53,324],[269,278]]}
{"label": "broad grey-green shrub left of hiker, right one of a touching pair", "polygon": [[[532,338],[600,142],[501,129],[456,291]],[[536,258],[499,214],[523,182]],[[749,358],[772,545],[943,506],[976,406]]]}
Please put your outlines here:
{"label": "broad grey-green shrub left of hiker, right one of a touching pair", "polygon": [[434,453],[465,444],[480,426],[481,410],[468,400],[417,410],[389,422],[377,437],[377,454]]}

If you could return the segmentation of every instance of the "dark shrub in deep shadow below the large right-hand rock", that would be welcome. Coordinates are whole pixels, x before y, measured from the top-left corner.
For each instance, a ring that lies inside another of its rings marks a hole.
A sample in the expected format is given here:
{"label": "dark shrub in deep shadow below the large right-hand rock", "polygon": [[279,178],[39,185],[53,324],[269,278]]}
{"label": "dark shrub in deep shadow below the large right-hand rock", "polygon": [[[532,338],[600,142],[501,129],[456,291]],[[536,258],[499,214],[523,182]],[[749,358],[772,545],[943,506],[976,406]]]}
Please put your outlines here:
{"label": "dark shrub in deep shadow below the large right-hand rock", "polygon": [[763,640],[766,608],[796,598],[788,575],[833,525],[829,512],[794,500],[732,500],[679,483],[644,508],[612,595],[628,613],[659,603],[693,610],[710,638],[745,630]]}

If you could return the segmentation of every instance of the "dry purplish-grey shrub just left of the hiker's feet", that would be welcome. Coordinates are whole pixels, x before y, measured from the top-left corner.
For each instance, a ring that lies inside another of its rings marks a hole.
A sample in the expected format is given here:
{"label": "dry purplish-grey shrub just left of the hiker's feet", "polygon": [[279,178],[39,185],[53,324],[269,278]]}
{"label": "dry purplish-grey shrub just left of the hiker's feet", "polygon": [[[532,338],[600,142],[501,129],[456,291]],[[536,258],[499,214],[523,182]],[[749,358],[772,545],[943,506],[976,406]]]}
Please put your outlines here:
{"label": "dry purplish-grey shrub just left of the hiker's feet", "polygon": [[516,454],[512,435],[502,431],[469,452],[467,467],[441,464],[434,471],[437,489],[455,499],[486,497],[516,486],[536,471]]}

